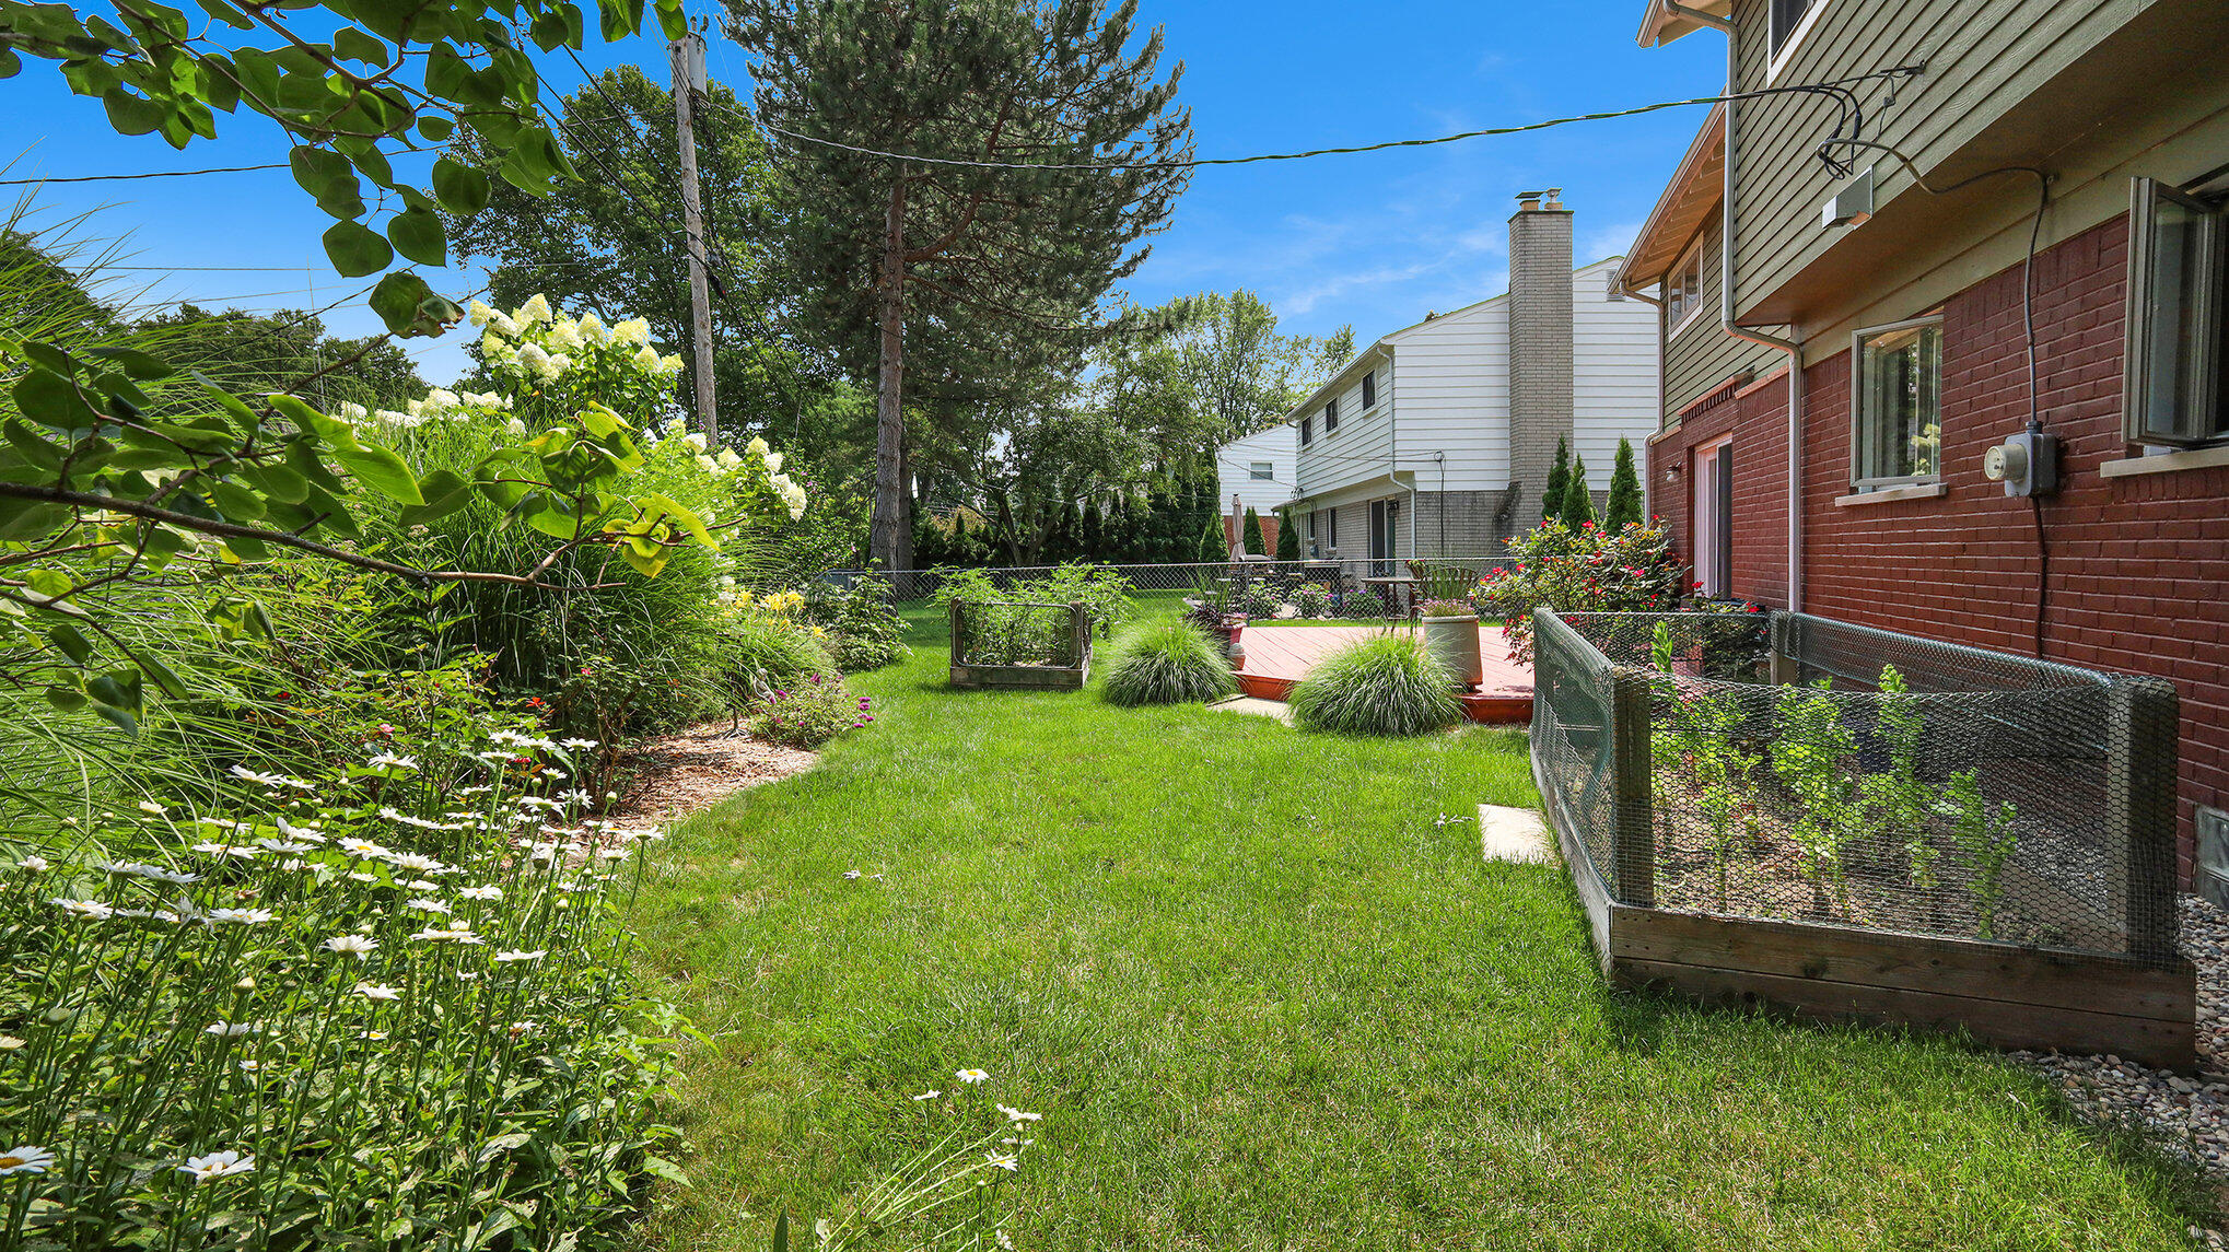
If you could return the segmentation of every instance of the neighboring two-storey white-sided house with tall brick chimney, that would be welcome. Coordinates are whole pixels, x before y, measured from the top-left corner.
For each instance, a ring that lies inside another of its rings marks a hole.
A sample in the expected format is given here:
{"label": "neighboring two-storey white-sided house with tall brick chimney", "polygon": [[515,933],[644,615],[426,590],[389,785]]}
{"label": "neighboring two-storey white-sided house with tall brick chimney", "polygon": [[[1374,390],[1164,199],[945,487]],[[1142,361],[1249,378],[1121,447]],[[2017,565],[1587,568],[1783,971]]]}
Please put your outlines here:
{"label": "neighboring two-storey white-sided house with tall brick chimney", "polygon": [[1612,294],[1618,256],[1571,267],[1547,196],[1509,218],[1507,294],[1378,339],[1286,414],[1304,555],[1375,573],[1498,555],[1540,519],[1558,437],[1600,506],[1618,439],[1656,430],[1656,310]]}

